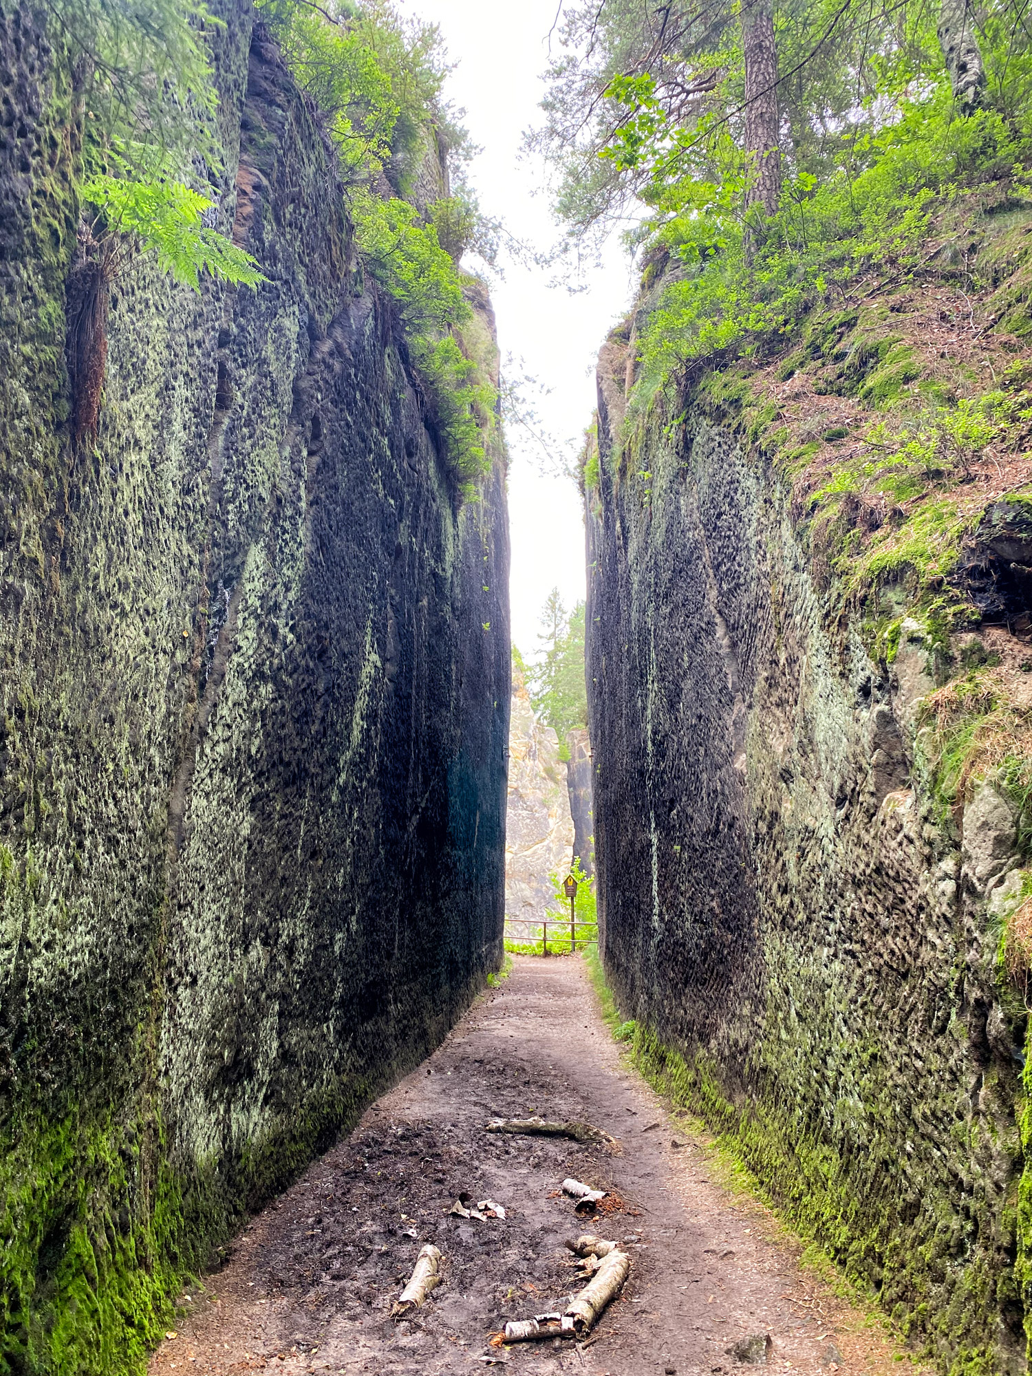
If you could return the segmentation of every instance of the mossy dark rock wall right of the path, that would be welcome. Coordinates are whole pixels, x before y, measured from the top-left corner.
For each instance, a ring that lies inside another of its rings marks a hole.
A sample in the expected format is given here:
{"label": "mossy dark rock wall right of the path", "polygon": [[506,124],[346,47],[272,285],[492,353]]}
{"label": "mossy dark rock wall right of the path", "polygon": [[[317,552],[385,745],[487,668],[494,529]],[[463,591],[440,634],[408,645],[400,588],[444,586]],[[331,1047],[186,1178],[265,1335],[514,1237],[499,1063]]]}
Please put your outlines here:
{"label": "mossy dark rock wall right of the path", "polygon": [[[848,366],[856,312],[824,323],[823,341],[806,326],[815,359]],[[900,348],[871,348],[872,407],[889,377],[914,381]],[[651,1071],[944,1369],[1025,1370],[1028,1020],[1002,923],[1028,892],[1028,703],[987,638],[1017,637],[978,629],[958,559],[937,582],[904,560],[854,577],[877,526],[815,520],[861,462],[854,443],[835,458],[854,414],[808,402],[790,420],[812,447],[786,458],[799,436],[777,432],[760,373],[695,370],[629,428],[626,332],[600,359],[585,480],[605,967]],[[926,498],[896,494],[900,527]],[[956,548],[1013,560],[1021,512],[980,523],[974,504]],[[948,750],[970,764],[971,721],[993,711],[996,768],[987,749],[948,790]]]}

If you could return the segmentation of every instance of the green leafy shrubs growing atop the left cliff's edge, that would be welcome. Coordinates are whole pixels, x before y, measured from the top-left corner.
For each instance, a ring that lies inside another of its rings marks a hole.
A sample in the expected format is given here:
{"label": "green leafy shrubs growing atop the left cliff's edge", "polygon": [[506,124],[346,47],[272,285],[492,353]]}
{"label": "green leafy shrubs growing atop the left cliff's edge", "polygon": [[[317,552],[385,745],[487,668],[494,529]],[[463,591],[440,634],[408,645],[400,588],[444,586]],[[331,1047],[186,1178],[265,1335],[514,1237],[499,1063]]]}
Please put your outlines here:
{"label": "green leafy shrubs growing atop the left cliff's edge", "polygon": [[[260,0],[259,10],[327,118],[356,244],[398,301],[429,418],[460,494],[473,497],[490,468],[497,400],[461,333],[472,312],[457,264],[476,235],[477,212],[465,193],[438,197],[422,211],[406,198],[421,160],[465,146],[465,132],[440,102],[446,66],[438,29],[407,23],[381,0],[336,10],[332,0],[330,8]],[[395,195],[384,194],[384,176]]]}

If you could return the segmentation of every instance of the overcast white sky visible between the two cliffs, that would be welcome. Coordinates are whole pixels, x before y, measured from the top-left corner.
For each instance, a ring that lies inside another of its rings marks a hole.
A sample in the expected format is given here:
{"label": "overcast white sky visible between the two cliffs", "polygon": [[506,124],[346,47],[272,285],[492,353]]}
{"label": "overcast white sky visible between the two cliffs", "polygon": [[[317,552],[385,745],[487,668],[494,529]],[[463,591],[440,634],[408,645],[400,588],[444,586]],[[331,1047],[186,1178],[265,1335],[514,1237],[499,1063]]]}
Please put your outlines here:
{"label": "overcast white sky visible between the two cliffs", "polygon": [[[447,95],[466,111],[465,124],[483,149],[471,169],[482,209],[535,248],[557,237],[539,165],[519,161],[523,131],[537,124],[548,62],[548,32],[559,0],[406,0],[405,12],[439,23],[455,70]],[[491,296],[502,358],[522,358],[550,388],[538,398],[548,429],[568,449],[594,407],[594,356],[623,314],[629,264],[612,244],[604,266],[588,277],[589,290],[549,288],[550,274],[508,266]],[[512,638],[537,647],[538,615],[557,586],[567,605],[585,594],[581,495],[572,482],[548,477],[519,429],[509,433],[509,522],[512,530]]]}

